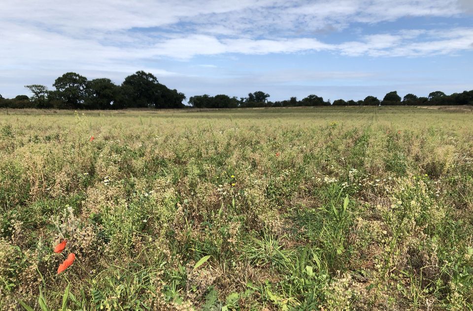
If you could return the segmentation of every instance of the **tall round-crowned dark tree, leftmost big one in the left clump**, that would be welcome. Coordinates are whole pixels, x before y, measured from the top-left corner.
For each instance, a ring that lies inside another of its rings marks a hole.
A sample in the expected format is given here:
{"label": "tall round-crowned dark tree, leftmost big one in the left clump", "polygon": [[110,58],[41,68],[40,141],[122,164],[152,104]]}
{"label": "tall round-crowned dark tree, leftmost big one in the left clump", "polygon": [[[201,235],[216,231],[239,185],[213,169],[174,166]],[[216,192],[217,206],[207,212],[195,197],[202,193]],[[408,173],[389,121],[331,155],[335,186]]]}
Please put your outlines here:
{"label": "tall round-crowned dark tree, leftmost big one in the left clump", "polygon": [[87,98],[87,78],[75,72],[68,72],[56,79],[53,86],[56,92],[51,93],[56,100],[61,100],[65,108],[83,108]]}

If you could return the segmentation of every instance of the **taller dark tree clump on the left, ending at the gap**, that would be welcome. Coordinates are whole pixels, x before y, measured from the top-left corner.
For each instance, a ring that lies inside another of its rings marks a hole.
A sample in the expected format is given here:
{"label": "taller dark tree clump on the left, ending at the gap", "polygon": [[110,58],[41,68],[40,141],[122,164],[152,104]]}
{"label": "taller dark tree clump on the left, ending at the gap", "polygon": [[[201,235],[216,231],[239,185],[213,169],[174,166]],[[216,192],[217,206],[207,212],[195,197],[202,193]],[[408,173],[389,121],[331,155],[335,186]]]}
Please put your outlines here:
{"label": "taller dark tree clump on the left, ending at the gap", "polygon": [[0,108],[37,109],[124,109],[124,108],[183,108],[186,97],[175,89],[158,82],[151,73],[137,71],[125,78],[121,85],[110,79],[88,80],[75,72],[68,72],[54,81],[54,90],[45,85],[25,85],[33,96],[18,95],[4,99]]}

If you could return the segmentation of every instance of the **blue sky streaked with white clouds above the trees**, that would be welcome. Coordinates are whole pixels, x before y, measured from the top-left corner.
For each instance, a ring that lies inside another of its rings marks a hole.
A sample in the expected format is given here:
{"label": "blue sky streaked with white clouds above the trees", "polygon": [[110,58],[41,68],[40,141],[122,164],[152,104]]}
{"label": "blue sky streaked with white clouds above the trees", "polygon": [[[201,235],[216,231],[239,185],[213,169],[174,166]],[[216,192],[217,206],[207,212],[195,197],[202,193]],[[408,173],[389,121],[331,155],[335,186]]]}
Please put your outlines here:
{"label": "blue sky streaked with white clouds above the trees", "polygon": [[193,95],[473,89],[473,0],[1,0],[0,94],[138,70]]}

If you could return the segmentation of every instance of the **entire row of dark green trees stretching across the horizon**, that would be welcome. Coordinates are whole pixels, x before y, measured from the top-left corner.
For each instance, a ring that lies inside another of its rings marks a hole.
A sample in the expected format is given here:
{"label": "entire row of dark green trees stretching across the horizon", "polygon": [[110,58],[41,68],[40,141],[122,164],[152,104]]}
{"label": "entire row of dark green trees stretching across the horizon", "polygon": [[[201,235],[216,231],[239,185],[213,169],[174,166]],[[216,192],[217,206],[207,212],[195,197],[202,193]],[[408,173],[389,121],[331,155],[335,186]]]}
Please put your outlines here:
{"label": "entire row of dark green trees stretching across the horizon", "polygon": [[[186,108],[186,96],[176,89],[160,84],[151,73],[137,71],[125,78],[121,85],[110,79],[87,80],[74,72],[57,78],[54,90],[45,85],[26,85],[33,96],[18,95],[4,99],[0,94],[0,108],[37,109],[125,109],[125,108]],[[428,97],[407,94],[403,98],[397,91],[387,93],[382,100],[367,96],[364,100],[337,99],[325,101],[317,95],[308,95],[302,100],[291,97],[289,100],[270,101],[270,94],[263,91],[249,93],[247,97],[237,98],[225,94],[215,96],[196,95],[188,103],[194,108],[255,108],[255,107],[296,107],[296,106],[434,106],[434,105],[473,105],[473,90],[446,95],[434,91]]]}

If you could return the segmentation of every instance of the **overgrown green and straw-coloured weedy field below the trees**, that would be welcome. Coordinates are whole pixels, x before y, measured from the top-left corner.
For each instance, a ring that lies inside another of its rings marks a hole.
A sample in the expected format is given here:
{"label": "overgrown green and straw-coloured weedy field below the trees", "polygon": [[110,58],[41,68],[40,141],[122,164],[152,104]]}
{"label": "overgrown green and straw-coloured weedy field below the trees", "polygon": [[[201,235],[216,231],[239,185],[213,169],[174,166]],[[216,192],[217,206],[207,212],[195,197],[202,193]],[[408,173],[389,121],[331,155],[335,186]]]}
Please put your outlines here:
{"label": "overgrown green and straw-coloured weedy field below the trees", "polygon": [[1,310],[472,310],[473,113],[2,110],[0,213]]}

